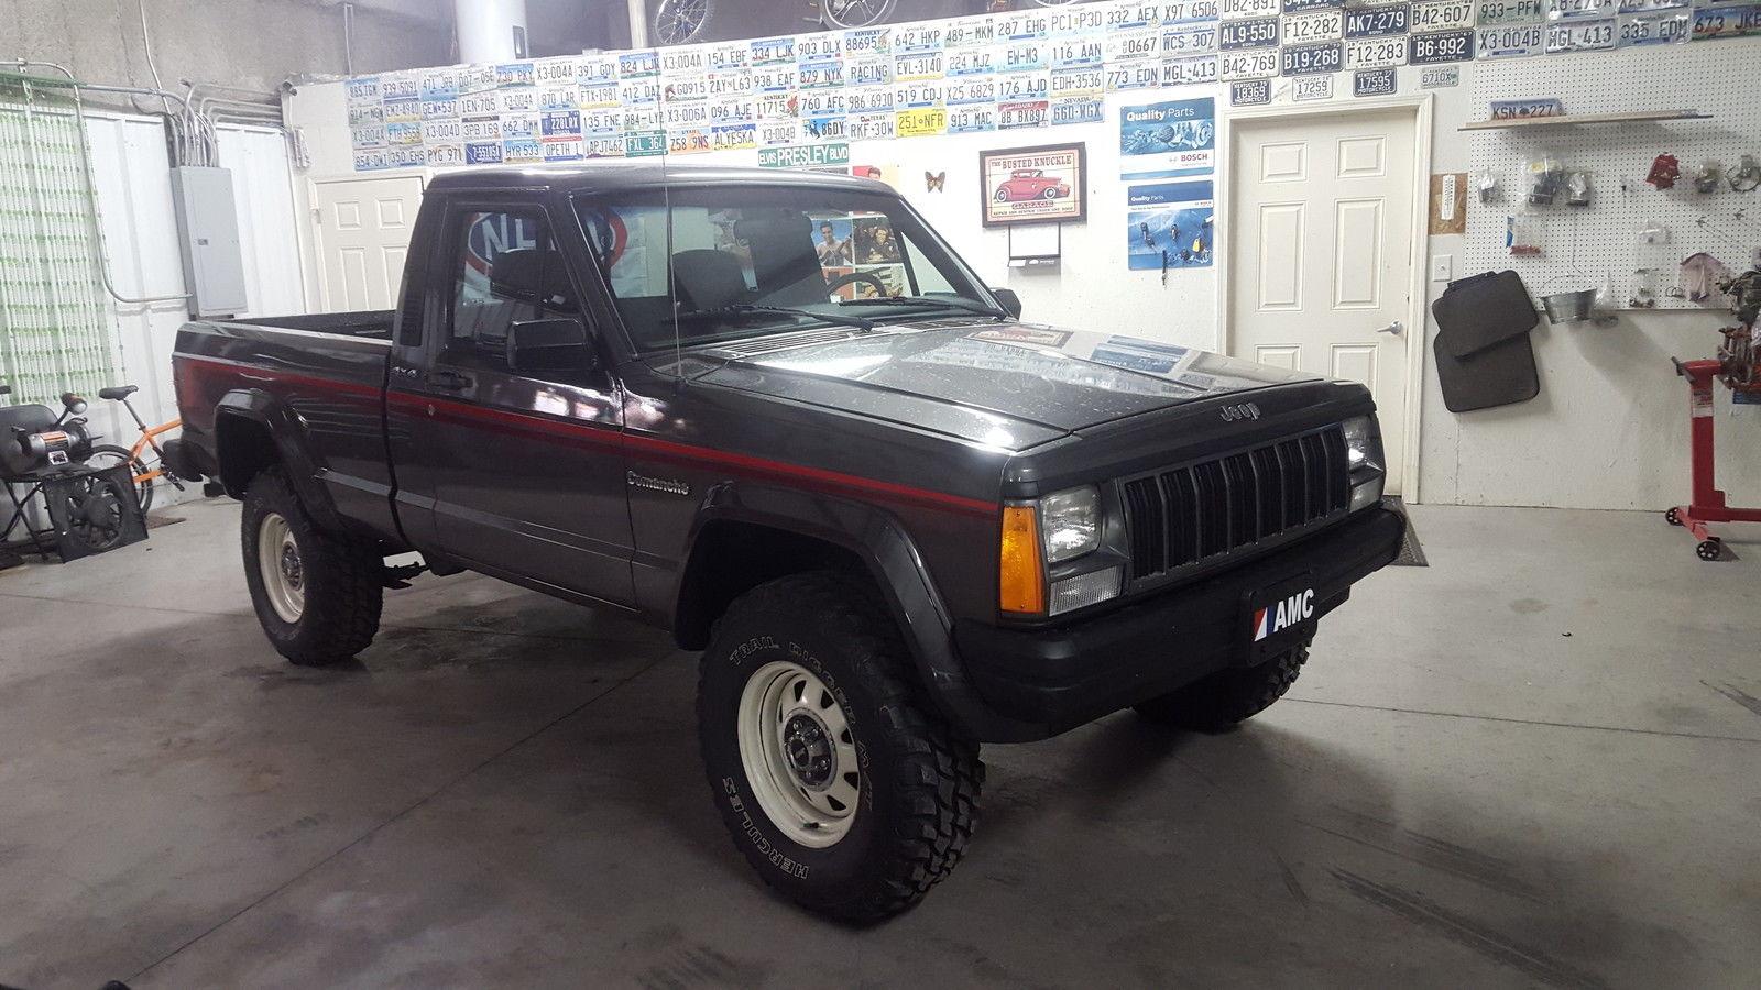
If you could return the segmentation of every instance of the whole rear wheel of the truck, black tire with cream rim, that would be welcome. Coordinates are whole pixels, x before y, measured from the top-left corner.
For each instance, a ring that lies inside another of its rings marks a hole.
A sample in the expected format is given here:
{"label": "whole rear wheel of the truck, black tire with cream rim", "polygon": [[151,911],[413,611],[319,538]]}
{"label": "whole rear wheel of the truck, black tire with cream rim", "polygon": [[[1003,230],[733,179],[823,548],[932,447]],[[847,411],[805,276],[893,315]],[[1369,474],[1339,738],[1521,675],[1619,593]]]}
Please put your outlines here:
{"label": "whole rear wheel of the truck, black tire with cream rim", "polygon": [[384,557],[370,541],[321,532],[282,469],[252,479],[239,536],[250,604],[275,652],[329,666],[373,641]]}

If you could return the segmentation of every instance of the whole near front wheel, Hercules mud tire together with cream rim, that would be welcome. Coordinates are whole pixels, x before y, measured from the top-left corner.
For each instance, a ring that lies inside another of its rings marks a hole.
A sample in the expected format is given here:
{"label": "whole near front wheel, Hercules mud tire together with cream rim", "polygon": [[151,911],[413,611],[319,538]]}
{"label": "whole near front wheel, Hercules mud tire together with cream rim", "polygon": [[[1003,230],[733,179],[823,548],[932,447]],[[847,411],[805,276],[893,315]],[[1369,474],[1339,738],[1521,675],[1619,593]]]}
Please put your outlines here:
{"label": "whole near front wheel, Hercules mud tire together with cream rim", "polygon": [[960,861],[979,749],[921,698],[893,622],[831,573],[747,592],[697,683],[704,772],[734,846],[812,911],[875,921]]}

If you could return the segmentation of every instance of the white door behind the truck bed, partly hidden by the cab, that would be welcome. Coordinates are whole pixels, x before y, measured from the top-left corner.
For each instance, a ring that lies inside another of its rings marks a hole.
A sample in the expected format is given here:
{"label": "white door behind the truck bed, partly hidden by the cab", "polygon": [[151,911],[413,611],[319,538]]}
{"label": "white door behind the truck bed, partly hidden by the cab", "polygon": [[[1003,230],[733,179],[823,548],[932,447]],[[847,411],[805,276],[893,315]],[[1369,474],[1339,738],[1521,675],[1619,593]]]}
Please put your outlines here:
{"label": "white door behind the truck bed, partly hidden by the cab", "polygon": [[319,268],[324,310],[333,314],[396,307],[410,227],[423,203],[417,176],[315,183]]}

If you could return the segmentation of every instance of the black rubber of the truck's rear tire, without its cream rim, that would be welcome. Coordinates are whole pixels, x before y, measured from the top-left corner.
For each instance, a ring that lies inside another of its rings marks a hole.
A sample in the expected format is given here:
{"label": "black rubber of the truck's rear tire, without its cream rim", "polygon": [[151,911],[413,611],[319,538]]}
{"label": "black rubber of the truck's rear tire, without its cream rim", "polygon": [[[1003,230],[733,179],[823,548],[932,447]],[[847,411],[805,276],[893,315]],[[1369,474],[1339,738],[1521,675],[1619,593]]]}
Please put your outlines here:
{"label": "black rubber of the truck's rear tire, without its cream rim", "polygon": [[[257,562],[257,534],[271,513],[287,520],[299,546],[305,608],[298,622],[275,613]],[[275,652],[315,668],[340,664],[373,641],[386,597],[384,555],[372,541],[319,530],[282,469],[271,467],[250,481],[239,541],[250,604]]]}

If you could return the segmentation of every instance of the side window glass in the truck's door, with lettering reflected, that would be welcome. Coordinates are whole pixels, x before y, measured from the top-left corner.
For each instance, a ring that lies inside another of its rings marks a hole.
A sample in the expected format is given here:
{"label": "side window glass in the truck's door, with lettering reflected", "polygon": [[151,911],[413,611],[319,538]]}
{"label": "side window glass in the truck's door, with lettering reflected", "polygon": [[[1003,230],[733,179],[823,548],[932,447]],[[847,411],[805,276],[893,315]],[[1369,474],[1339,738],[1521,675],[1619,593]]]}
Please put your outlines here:
{"label": "side window glass in the truck's door, with lettering reflected", "polygon": [[562,254],[537,210],[484,210],[453,231],[449,361],[507,368],[507,329],[521,321],[579,315]]}

